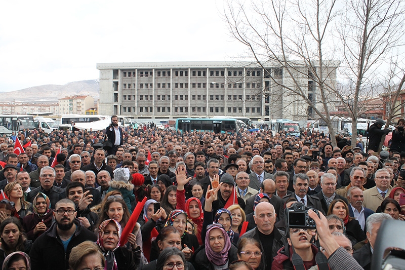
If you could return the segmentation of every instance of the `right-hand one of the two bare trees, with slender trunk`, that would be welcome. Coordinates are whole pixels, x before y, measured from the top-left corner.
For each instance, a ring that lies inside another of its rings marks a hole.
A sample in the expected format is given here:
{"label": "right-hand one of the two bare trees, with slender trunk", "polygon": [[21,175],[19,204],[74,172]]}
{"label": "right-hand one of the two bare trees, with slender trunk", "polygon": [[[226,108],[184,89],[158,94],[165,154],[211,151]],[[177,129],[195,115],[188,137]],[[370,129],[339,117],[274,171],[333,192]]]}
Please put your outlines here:
{"label": "right-hand one of the two bare trees, with slender trunk", "polygon": [[[354,86],[347,104],[352,119],[352,146],[357,135],[357,118],[362,113],[359,97],[367,97],[375,85],[378,68],[393,49],[403,44],[404,6],[399,0],[348,0],[337,24],[343,43],[341,72]],[[337,93],[344,102],[344,98]]]}

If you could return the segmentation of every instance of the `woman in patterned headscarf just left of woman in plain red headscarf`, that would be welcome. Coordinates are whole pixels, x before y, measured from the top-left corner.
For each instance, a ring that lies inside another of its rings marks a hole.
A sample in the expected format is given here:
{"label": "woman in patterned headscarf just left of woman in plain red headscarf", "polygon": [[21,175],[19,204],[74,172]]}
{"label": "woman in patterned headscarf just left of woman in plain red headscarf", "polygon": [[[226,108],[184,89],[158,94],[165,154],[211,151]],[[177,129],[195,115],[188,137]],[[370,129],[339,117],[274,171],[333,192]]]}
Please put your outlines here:
{"label": "woman in patterned headscarf just left of woman in plain red headscarf", "polygon": [[[198,249],[198,240],[195,235],[187,234],[187,213],[183,210],[176,209],[170,212],[166,221],[166,226],[173,226],[181,235],[181,248],[187,260],[191,259],[191,255]],[[155,241],[153,241],[155,242]],[[157,259],[158,248],[156,243],[152,243],[150,252],[150,260]]]}

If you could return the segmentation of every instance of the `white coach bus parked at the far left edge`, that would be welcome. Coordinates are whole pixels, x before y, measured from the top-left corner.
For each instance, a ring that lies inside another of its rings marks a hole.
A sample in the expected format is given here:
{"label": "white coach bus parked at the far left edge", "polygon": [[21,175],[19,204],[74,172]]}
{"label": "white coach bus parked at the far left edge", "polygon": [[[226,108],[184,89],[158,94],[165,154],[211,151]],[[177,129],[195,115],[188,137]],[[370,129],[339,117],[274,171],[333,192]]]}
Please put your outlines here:
{"label": "white coach bus parked at the far left edge", "polygon": [[32,130],[35,128],[32,115],[3,114],[0,115],[0,135],[11,136],[14,131]]}

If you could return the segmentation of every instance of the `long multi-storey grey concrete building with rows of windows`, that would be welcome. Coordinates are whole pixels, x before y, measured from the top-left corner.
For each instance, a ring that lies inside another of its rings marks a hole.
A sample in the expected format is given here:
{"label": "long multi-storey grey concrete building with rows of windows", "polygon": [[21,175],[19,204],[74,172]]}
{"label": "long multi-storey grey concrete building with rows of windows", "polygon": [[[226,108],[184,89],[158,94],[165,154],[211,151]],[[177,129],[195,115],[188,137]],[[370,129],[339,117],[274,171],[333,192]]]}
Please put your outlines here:
{"label": "long multi-storey grey concrete building with rows of windows", "polygon": [[[280,84],[296,84],[283,68],[245,62],[98,63],[100,114],[131,118],[180,118],[215,115],[269,121],[302,120],[313,111]],[[299,84],[316,100],[307,71]],[[328,71],[336,86],[336,71]],[[277,81],[277,83],[275,83]],[[293,86],[292,86],[293,87]]]}

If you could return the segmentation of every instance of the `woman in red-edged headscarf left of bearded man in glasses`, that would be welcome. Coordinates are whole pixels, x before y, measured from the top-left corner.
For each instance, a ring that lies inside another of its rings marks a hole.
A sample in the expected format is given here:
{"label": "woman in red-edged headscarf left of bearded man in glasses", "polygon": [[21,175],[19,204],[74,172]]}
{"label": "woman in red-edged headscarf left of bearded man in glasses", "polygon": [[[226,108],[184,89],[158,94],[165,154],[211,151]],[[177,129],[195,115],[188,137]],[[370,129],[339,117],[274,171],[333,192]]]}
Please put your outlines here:
{"label": "woman in red-edged headscarf left of bearded man in glasses", "polygon": [[51,227],[53,212],[51,202],[45,194],[38,192],[33,202],[33,213],[26,215],[23,219],[23,228],[27,233],[27,239],[35,241]]}

